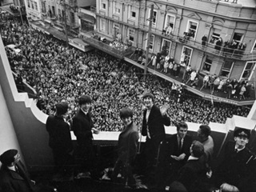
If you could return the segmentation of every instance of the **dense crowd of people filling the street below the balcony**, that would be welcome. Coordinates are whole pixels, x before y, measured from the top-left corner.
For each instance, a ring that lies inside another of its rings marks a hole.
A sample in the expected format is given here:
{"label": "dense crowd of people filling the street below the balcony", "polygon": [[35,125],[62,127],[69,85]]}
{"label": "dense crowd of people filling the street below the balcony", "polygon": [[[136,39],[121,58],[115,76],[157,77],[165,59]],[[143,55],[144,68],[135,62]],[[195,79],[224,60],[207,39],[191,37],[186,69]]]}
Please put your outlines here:
{"label": "dense crowd of people filling the street below the balcony", "polygon": [[176,122],[226,122],[233,114],[246,117],[250,109],[242,106],[197,98],[183,91],[178,102],[172,94],[171,82],[148,74],[101,51],[84,53],[54,38],[34,30],[14,18],[6,19],[1,35],[6,45],[15,44],[22,52],[6,50],[12,70],[37,90],[38,107],[46,114],[54,113],[55,103],[70,104],[67,118],[78,110],[81,94],[92,96],[94,125],[100,130],[121,130],[119,110],[129,106],[134,110],[134,122],[141,126],[142,94],[148,90],[156,97],[156,104],[169,104],[171,125]]}

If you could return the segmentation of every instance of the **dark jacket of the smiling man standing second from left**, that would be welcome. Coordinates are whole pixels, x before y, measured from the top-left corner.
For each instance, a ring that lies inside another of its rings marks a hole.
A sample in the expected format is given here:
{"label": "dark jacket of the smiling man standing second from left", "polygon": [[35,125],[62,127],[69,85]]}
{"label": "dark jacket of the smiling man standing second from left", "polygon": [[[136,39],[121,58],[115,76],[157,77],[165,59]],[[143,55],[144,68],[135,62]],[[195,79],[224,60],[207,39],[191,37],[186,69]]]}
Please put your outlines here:
{"label": "dark jacket of the smiling man standing second from left", "polygon": [[87,114],[84,114],[81,109],[78,110],[78,113],[73,118],[72,128],[74,130],[74,135],[77,137],[77,142],[79,145],[92,142],[92,127],[93,122],[91,120],[90,111]]}

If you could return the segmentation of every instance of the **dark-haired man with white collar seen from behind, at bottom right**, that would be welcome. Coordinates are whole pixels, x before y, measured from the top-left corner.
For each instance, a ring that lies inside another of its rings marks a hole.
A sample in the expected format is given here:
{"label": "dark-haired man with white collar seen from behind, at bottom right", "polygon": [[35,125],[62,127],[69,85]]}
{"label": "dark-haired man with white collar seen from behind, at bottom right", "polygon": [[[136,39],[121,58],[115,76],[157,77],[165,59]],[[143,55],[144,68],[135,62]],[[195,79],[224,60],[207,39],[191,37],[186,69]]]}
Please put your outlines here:
{"label": "dark-haired man with white collar seen from behind, at bottom right", "polygon": [[189,192],[206,192],[202,181],[206,179],[206,165],[199,160],[204,154],[204,147],[201,142],[194,141],[190,146],[190,157],[186,165],[182,166],[178,173],[178,182],[181,182]]}

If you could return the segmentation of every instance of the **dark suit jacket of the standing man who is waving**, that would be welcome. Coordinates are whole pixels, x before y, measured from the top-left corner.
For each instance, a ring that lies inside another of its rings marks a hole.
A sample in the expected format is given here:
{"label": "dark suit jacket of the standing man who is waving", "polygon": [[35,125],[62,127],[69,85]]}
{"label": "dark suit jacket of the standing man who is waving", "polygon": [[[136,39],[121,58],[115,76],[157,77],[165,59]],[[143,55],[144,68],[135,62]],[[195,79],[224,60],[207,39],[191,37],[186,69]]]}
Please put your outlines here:
{"label": "dark suit jacket of the standing man who is waving", "polygon": [[[146,123],[146,110],[143,111],[142,120],[142,135],[147,136],[146,127],[148,126],[150,138],[155,142],[162,142],[166,137],[165,126],[170,126],[170,118],[165,115],[162,116],[158,106],[153,105],[150,110],[149,121]],[[148,138],[146,138],[148,139]]]}

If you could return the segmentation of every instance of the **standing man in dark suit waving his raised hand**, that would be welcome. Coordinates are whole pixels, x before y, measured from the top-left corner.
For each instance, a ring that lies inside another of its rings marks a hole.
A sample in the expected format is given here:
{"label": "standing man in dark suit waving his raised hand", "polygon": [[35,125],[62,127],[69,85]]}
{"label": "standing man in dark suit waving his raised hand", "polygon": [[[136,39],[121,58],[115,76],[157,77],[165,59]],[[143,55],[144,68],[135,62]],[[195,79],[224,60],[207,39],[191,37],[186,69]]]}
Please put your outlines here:
{"label": "standing man in dark suit waving his raised hand", "polygon": [[[149,178],[150,175],[156,174],[156,171],[161,169],[163,152],[160,151],[160,144],[166,137],[164,126],[170,126],[170,118],[166,113],[167,107],[160,109],[154,105],[153,94],[146,93],[142,98],[145,105],[145,110],[143,110],[142,135],[146,136],[146,170],[148,171],[146,174]],[[153,178],[153,180],[155,179]]]}

